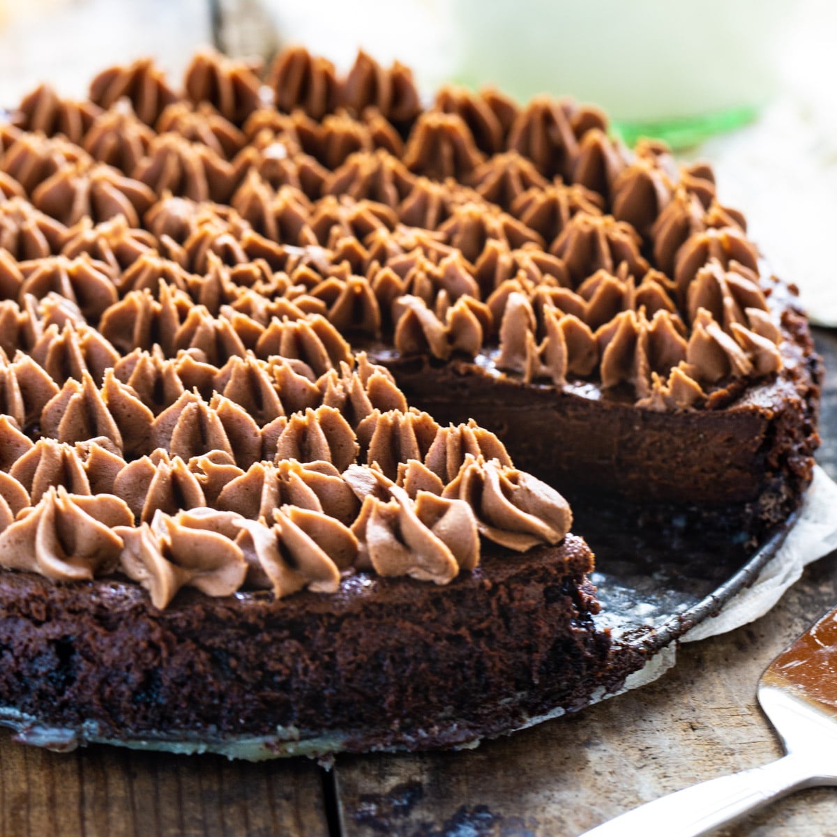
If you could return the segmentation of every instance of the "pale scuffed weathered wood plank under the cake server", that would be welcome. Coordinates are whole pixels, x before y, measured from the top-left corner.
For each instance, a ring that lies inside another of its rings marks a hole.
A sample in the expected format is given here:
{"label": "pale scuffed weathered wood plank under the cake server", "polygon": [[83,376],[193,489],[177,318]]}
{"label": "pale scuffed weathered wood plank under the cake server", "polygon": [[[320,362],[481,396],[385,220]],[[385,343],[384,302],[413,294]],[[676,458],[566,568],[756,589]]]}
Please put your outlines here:
{"label": "pale scuffed weathered wood plank under the cake server", "polygon": [[[833,370],[824,391],[819,460],[834,477],[837,336],[820,331],[817,339]],[[778,757],[778,742],[757,706],[758,677],[835,602],[837,553],[809,567],[763,619],[683,646],[675,669],[643,689],[471,752],[339,758],[344,833],[579,834],[663,793]],[[820,788],[721,834],[823,837],[837,834],[834,823],[837,792]]]}

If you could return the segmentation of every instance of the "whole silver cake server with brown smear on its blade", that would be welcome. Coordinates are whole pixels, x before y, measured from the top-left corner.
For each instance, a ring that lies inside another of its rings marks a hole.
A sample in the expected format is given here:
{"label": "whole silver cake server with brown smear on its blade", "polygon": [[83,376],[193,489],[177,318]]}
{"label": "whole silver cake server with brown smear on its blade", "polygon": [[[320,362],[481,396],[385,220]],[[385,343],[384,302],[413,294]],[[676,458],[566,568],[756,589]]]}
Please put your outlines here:
{"label": "whole silver cake server with brown smear on its blade", "polygon": [[697,837],[794,790],[837,785],[837,608],[768,665],[757,695],[785,756],[670,793],[581,837]]}

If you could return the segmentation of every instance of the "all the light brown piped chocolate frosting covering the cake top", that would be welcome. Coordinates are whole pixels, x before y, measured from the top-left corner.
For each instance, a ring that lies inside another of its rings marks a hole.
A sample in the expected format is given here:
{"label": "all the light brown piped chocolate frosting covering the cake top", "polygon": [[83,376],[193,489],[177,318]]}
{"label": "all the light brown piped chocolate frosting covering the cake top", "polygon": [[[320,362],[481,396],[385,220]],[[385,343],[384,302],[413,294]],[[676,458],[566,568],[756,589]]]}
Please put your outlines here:
{"label": "all the light brown piped chocolate frosting covering the cake top", "polygon": [[347,334],[657,411],[781,368],[705,164],[631,154],[570,100],[423,111],[363,53],[338,77],[290,50],[270,86],[263,107],[257,67],[205,51],[180,99],[141,60],[88,102],[35,90],[0,131],[4,566],[121,573],[163,608],[183,586],[447,583],[481,538],[564,537],[560,496],[410,409]]}

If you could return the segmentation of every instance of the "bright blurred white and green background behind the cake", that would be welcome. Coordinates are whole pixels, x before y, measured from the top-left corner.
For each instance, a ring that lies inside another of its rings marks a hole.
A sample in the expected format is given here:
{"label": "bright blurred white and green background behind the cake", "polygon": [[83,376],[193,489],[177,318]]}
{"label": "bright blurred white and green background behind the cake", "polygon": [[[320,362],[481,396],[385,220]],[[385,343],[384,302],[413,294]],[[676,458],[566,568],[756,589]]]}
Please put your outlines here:
{"label": "bright blurred white and green background behind the cake", "polygon": [[264,59],[301,43],[338,69],[362,47],[412,66],[426,95],[445,81],[574,95],[629,143],[710,159],[722,202],[837,326],[835,42],[832,0],[0,0],[0,106],[40,81],[82,96],[143,55],[177,81],[209,43]]}

